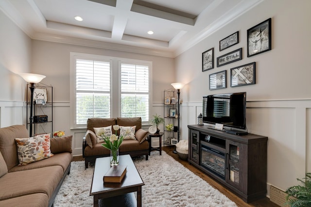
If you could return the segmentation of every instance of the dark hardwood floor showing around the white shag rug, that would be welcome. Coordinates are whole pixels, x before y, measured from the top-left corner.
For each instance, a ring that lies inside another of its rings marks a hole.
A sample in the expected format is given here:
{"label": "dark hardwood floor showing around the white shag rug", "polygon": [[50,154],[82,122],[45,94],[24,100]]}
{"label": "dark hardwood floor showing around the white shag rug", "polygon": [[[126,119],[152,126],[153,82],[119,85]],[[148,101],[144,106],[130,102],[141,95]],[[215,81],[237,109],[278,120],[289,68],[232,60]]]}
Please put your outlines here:
{"label": "dark hardwood floor showing around the white shag rug", "polygon": [[[258,201],[254,201],[252,203],[245,203],[240,197],[226,189],[224,186],[219,184],[217,181],[215,181],[213,178],[207,176],[202,171],[197,169],[196,167],[192,166],[187,160],[179,159],[178,155],[173,153],[173,150],[175,148],[173,146],[165,146],[162,147],[162,150],[165,151],[168,155],[173,157],[176,161],[180,162],[182,165],[184,165],[186,168],[188,168],[191,172],[193,172],[195,175],[198,175],[203,180],[205,180],[208,184],[213,186],[218,191],[222,192],[227,196],[231,201],[235,202],[238,207],[279,207],[275,203],[271,202],[269,198],[263,198]],[[81,161],[83,160],[82,156],[74,157],[73,161]]]}

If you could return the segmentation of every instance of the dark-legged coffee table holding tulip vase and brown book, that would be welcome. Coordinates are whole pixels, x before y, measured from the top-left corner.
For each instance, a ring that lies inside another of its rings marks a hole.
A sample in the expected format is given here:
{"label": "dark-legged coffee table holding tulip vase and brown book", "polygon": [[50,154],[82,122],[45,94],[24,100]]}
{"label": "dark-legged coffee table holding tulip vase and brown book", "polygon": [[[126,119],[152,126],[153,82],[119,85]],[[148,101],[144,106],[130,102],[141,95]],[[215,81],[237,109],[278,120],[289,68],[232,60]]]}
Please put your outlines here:
{"label": "dark-legged coffee table holding tulip vase and brown book", "polygon": [[[127,173],[121,183],[104,183],[103,177],[110,169],[110,157],[97,158],[89,195],[93,195],[94,207],[99,206],[99,199],[124,195],[137,191],[137,206],[141,207],[142,181],[130,155],[119,156],[119,163],[127,165]],[[132,196],[133,197],[133,196]]]}

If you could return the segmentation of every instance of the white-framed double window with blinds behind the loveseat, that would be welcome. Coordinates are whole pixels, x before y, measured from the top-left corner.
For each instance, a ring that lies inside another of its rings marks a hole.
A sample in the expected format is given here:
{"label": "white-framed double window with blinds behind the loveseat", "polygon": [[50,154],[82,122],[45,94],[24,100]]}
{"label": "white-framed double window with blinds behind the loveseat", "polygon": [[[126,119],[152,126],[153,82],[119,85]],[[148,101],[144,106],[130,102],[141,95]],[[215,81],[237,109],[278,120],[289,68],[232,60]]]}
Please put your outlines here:
{"label": "white-framed double window with blinds behind the loveseat", "polygon": [[149,122],[151,62],[71,53],[73,127],[91,117]]}

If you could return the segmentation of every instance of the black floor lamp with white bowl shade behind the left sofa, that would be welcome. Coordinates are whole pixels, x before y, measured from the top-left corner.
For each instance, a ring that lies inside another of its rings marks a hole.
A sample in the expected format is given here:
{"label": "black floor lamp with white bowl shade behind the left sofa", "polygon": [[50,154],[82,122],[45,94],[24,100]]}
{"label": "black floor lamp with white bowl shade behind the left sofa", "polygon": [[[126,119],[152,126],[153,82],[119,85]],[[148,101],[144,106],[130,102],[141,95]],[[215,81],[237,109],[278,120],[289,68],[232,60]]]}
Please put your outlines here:
{"label": "black floor lamp with white bowl shade behind the left sofa", "polygon": [[34,90],[35,90],[35,83],[40,82],[46,76],[33,74],[33,73],[21,73],[19,74],[26,82],[30,84],[30,117],[29,117],[29,136],[32,137],[33,135],[33,106],[34,106]]}

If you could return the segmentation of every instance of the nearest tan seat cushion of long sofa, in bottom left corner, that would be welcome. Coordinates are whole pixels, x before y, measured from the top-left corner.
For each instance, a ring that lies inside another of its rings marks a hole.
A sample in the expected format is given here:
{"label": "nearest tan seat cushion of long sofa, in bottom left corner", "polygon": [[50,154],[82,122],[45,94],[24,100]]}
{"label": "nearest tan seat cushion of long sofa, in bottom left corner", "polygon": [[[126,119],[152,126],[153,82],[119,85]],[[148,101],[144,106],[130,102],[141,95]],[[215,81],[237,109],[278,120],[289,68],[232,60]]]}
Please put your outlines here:
{"label": "nearest tan seat cushion of long sofa, in bottom left corner", "polygon": [[6,200],[0,200],[0,207],[47,207],[48,205],[49,197],[45,193],[35,193]]}

